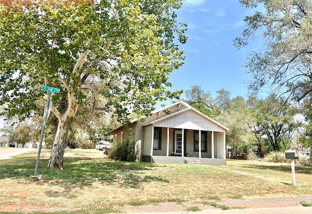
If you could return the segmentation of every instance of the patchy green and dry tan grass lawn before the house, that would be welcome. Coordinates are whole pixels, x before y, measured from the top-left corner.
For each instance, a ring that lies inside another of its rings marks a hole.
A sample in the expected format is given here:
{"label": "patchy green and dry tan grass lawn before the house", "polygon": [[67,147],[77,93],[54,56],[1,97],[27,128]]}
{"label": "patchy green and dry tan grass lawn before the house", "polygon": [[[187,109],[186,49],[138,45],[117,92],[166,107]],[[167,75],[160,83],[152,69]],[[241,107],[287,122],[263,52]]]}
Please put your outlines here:
{"label": "patchy green and dry tan grass lawn before the house", "polygon": [[[312,168],[259,161],[228,160],[227,166],[111,161],[91,150],[66,150],[64,170],[48,170],[50,150],[40,158],[39,181],[29,178],[36,152],[0,161],[0,211],[9,204],[46,212],[118,211],[118,206],[160,202],[207,204],[222,198],[312,195]],[[238,172],[238,173],[237,173]],[[246,174],[242,174],[246,173]],[[247,175],[248,174],[248,175]],[[265,178],[260,178],[262,176]],[[271,179],[268,179],[271,178]],[[301,185],[302,184],[302,185]]]}

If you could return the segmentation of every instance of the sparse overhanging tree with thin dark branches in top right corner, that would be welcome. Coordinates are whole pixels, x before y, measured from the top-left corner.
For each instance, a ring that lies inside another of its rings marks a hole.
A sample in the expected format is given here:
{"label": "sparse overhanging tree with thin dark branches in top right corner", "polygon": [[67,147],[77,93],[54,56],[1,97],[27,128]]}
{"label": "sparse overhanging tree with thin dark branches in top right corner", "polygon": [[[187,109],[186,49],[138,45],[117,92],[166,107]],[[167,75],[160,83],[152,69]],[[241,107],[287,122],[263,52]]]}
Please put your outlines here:
{"label": "sparse overhanging tree with thin dark branches in top right corner", "polygon": [[[247,28],[234,45],[243,47],[254,36],[264,48],[252,52],[246,64],[254,77],[249,88],[269,86],[274,92],[300,101],[312,92],[312,1],[240,0],[247,8],[256,7],[244,21]],[[253,41],[254,42],[254,41]],[[264,51],[263,51],[264,50]]]}

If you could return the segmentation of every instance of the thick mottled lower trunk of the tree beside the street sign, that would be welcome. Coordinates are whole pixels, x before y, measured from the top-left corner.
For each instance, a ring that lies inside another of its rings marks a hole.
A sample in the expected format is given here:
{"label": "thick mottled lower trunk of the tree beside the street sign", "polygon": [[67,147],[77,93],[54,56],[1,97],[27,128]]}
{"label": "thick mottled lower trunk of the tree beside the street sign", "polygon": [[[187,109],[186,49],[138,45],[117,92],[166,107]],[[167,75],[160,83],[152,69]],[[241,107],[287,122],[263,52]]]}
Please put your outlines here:
{"label": "thick mottled lower trunk of the tree beside the street sign", "polygon": [[48,164],[49,169],[63,169],[63,157],[66,146],[65,143],[73,118],[69,118],[67,116],[63,116],[62,118],[67,118],[67,120],[62,119],[59,121],[58,130],[55,135],[50,161]]}

